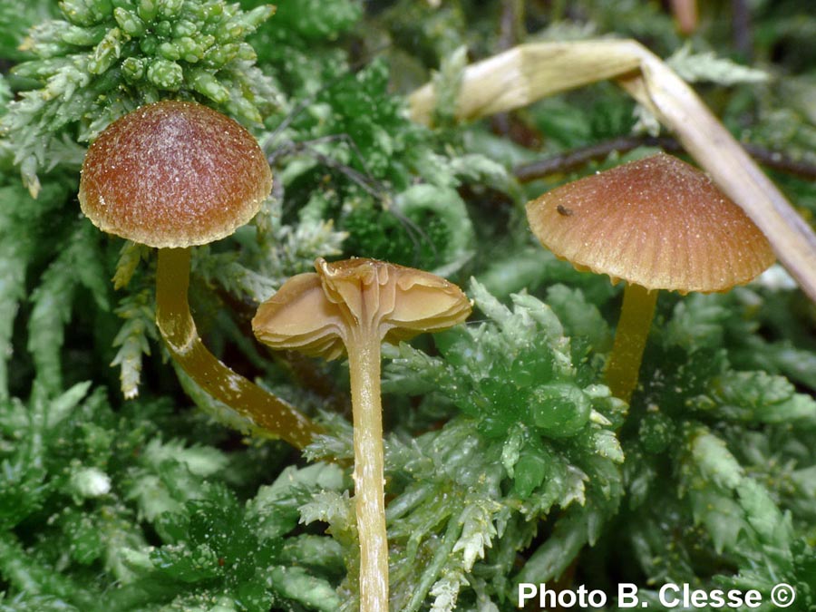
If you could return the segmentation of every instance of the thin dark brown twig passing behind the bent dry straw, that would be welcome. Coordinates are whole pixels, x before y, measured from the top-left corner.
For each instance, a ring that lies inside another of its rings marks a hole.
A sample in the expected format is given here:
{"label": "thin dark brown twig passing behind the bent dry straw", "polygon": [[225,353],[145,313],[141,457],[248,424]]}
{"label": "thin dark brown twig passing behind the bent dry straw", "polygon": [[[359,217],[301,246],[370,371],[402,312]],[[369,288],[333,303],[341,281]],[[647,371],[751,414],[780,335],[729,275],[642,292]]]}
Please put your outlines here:
{"label": "thin dark brown twig passing behind the bent dry straw", "polygon": [[[516,179],[522,183],[548,177],[551,174],[578,170],[590,161],[605,160],[610,153],[626,153],[637,147],[660,147],[664,151],[678,153],[683,146],[669,136],[620,136],[609,141],[597,142],[588,147],[559,153],[546,160],[521,164],[513,169]],[[743,149],[772,170],[791,174],[804,180],[816,180],[816,166],[804,161],[792,160],[778,151],[771,151],[755,144],[743,143]]]}

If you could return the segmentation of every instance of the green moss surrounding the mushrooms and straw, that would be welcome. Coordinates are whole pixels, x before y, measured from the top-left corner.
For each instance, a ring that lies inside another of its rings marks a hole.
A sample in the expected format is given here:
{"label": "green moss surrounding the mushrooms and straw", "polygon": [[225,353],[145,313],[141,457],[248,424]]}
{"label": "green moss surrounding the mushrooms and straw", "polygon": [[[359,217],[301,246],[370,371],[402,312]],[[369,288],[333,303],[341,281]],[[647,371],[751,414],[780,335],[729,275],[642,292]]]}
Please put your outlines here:
{"label": "green moss surrounding the mushrooms and straw", "polygon": [[[627,407],[601,376],[619,289],[540,248],[523,204],[650,150],[529,184],[513,168],[650,121],[608,83],[452,121],[470,60],[636,37],[738,138],[812,169],[809,3],[700,4],[684,38],[646,0],[0,0],[0,610],[355,609],[345,364],[248,331],[284,279],[353,255],[450,277],[477,307],[386,349],[394,610],[517,609],[519,581],[559,577],[636,582],[651,607],[669,581],[757,588],[761,609],[783,581],[789,609],[816,609],[813,305],[778,269],[661,296]],[[403,97],[431,78],[433,130]],[[214,352],[325,423],[305,456],[219,423],[158,341],[154,253],[79,212],[88,143],[163,98],[235,117],[275,171],[250,226],[196,249],[191,301]],[[769,171],[813,219],[812,173]]]}

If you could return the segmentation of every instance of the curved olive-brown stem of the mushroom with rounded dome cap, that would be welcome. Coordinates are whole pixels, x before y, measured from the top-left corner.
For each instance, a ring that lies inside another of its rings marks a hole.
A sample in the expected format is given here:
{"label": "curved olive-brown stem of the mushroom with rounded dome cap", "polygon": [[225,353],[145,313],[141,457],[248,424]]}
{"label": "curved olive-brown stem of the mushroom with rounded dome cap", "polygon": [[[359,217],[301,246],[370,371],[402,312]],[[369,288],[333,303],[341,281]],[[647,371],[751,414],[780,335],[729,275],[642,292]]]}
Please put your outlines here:
{"label": "curved olive-brown stem of the mushroom with rounded dome cap", "polygon": [[189,312],[189,248],[160,248],[156,323],[173,360],[211,396],[298,449],[317,433],[294,406],[233,372],[201,342]]}

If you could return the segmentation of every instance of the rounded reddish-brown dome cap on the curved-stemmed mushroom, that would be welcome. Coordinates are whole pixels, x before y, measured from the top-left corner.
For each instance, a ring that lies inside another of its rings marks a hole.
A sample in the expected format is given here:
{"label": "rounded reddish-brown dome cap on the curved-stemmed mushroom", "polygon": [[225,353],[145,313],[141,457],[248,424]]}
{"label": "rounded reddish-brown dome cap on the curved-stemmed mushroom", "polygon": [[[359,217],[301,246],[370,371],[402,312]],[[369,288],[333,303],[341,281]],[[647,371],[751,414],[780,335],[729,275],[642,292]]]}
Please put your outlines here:
{"label": "rounded reddish-brown dome cap on the curved-stemmed mushroom", "polygon": [[255,138],[195,102],[147,104],[88,150],[79,200],[98,228],[151,247],[206,244],[257,213],[272,171]]}

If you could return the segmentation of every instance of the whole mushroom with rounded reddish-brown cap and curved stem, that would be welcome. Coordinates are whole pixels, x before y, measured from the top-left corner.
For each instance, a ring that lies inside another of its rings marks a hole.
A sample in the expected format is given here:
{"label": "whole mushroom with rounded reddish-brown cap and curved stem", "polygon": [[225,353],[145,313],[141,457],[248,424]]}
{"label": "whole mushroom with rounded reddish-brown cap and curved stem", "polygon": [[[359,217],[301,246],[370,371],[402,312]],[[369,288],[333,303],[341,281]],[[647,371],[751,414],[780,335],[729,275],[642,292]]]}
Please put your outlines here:
{"label": "whole mushroom with rounded reddish-brown cap and curved stem", "polygon": [[232,234],[272,189],[255,138],[195,102],[163,101],[113,121],[83,162],[79,200],[103,231],[159,248],[156,323],[170,355],[207,393],[303,448],[316,427],[287,402],[222,364],[189,312],[189,248]]}

